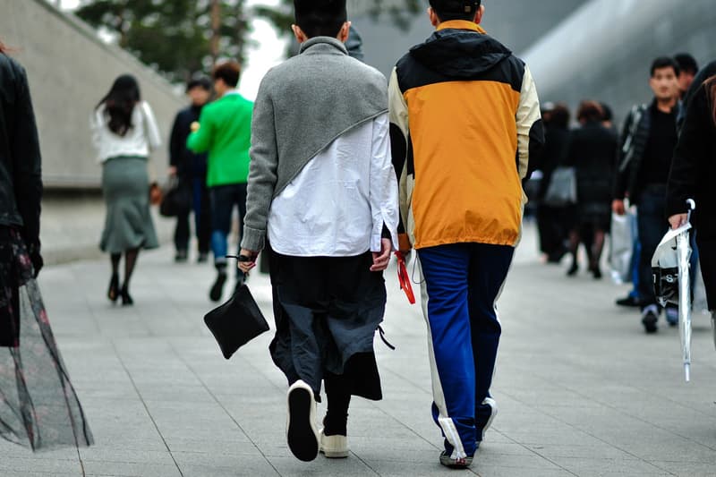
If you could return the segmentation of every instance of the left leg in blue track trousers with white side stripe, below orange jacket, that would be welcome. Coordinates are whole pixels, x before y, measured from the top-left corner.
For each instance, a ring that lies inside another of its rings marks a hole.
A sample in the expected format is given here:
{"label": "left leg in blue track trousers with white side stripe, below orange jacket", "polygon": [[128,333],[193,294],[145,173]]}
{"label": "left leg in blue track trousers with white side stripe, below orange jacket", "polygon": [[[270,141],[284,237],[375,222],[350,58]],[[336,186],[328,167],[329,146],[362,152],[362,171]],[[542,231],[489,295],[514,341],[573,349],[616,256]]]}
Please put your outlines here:
{"label": "left leg in blue track trousers with white side stripe, below orange jacket", "polygon": [[473,456],[475,439],[475,367],[467,304],[470,248],[466,244],[418,251],[423,311],[427,309],[432,372],[433,418],[453,459]]}

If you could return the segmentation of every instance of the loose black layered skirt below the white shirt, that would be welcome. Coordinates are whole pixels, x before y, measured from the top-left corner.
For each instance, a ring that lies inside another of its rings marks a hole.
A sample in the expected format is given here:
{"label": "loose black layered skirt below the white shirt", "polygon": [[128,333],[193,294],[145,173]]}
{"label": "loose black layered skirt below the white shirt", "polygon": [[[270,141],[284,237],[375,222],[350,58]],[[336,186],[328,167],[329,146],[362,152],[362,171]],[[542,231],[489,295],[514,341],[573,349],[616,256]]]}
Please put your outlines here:
{"label": "loose black layered skirt below the white shirt", "polygon": [[268,254],[277,328],[270,352],[289,384],[303,379],[318,397],[328,371],[351,379],[354,396],[379,400],[373,337],[385,313],[386,288],[383,274],[370,271],[371,253]]}

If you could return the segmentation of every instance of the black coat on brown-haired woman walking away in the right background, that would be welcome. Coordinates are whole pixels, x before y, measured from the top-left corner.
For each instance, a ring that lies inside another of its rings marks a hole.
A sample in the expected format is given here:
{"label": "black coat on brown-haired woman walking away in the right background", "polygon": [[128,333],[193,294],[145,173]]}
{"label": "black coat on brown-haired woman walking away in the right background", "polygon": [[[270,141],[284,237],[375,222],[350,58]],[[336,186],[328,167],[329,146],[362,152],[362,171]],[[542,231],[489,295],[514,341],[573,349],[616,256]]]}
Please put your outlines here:
{"label": "black coat on brown-haired woman walking away in the right background", "polygon": [[566,164],[575,167],[576,196],[580,206],[594,204],[609,209],[617,151],[616,132],[598,122],[584,124],[571,132]]}

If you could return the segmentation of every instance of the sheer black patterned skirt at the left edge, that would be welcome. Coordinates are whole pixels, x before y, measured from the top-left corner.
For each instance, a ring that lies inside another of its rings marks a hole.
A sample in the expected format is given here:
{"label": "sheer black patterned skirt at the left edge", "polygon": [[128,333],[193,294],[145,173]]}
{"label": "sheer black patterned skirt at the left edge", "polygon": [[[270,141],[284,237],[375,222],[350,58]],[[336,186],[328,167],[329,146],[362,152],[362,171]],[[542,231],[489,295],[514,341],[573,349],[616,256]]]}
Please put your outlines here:
{"label": "sheer black patterned skirt at the left edge", "polygon": [[28,251],[13,229],[0,232],[0,436],[32,450],[90,446]]}

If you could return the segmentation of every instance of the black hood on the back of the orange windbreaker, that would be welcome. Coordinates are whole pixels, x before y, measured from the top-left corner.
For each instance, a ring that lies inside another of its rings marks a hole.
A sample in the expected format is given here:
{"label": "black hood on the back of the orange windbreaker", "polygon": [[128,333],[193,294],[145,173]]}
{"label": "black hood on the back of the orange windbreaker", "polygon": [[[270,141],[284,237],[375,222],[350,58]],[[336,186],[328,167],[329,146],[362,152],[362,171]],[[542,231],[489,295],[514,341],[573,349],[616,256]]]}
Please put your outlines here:
{"label": "black hood on the back of the orange windbreaker", "polygon": [[506,60],[512,52],[494,38],[472,30],[445,29],[410,50],[410,55],[434,72],[473,78]]}

